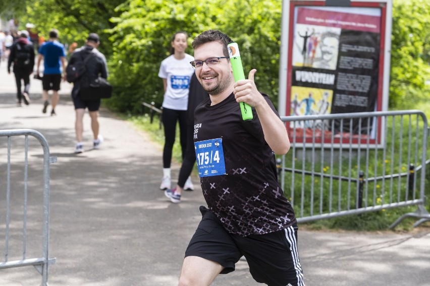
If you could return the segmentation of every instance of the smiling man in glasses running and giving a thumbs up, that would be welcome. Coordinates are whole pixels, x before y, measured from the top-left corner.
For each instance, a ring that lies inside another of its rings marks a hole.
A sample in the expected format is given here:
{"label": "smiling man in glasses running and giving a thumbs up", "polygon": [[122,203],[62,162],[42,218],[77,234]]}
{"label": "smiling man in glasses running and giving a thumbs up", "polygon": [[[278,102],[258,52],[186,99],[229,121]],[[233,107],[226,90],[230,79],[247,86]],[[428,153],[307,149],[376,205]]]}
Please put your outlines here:
{"label": "smiling man in glasses running and giving a thumbs up", "polygon": [[[209,285],[234,271],[245,256],[254,280],[270,286],[304,285],[293,207],[277,180],[274,154],[290,141],[267,95],[258,92],[255,69],[235,83],[227,44],[209,30],[197,36],[191,64],[209,99],[194,112],[194,142],[207,206],[187,247],[180,285]],[[239,102],[252,107],[242,119]],[[207,171],[206,171],[207,170]]]}

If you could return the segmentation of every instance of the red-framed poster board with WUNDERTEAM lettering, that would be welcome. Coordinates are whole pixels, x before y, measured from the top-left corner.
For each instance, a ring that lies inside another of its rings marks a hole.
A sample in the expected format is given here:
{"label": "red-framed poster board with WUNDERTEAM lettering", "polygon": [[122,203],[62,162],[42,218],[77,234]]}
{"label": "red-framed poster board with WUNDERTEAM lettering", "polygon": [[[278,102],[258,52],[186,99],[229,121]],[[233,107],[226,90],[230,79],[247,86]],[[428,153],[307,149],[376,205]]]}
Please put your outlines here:
{"label": "red-framed poster board with WUNDERTEAM lettering", "polygon": [[[391,7],[391,0],[284,1],[280,115],[387,110]],[[341,131],[327,125],[318,130],[320,140],[328,142],[332,132],[340,132],[336,142],[350,142],[353,134],[354,144],[360,143],[358,137],[369,142],[367,136],[371,136],[370,144],[381,146],[384,138],[371,134],[382,132],[365,126],[381,131],[384,122],[368,120],[353,119],[352,126],[343,126]],[[311,142],[309,126],[304,121],[302,125],[294,128],[296,142]],[[287,128],[291,133],[291,126]],[[360,136],[356,136],[358,130]]]}

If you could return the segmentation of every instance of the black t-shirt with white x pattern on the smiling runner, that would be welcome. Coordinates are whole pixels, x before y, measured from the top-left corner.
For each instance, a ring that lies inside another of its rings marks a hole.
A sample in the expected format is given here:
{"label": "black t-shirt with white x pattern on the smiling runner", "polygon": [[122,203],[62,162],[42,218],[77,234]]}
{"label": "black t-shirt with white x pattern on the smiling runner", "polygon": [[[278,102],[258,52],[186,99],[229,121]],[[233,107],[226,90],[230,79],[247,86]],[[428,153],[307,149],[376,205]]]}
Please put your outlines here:
{"label": "black t-shirt with white x pattern on the smiling runner", "polygon": [[293,225],[293,207],[278,182],[275,155],[264,140],[255,109],[254,118],[243,121],[233,93],[219,104],[210,103],[206,99],[195,110],[194,141],[222,138],[227,173],[200,178],[210,211],[228,232],[241,236]]}

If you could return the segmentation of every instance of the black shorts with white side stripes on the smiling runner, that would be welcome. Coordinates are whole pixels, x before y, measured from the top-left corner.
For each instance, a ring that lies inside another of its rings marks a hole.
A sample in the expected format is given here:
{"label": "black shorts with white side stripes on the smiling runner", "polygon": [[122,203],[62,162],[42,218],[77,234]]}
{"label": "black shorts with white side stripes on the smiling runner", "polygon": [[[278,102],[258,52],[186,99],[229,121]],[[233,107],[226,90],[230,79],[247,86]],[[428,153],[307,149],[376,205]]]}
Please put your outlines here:
{"label": "black shorts with white side stripes on the smiling runner", "polygon": [[235,270],[245,256],[255,281],[269,286],[304,286],[297,252],[297,224],[281,231],[242,237],[228,233],[220,220],[200,206],[202,219],[185,251],[185,257],[198,256],[220,263],[221,274]]}

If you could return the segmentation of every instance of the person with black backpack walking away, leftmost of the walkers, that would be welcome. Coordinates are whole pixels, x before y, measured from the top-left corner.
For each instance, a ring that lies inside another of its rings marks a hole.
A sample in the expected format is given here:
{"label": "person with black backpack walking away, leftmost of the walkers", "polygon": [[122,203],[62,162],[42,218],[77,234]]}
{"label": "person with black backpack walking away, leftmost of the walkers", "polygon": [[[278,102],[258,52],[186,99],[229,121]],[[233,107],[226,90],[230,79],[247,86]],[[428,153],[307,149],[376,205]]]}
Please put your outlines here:
{"label": "person with black backpack walking away, leftmost of the walkers", "polygon": [[[17,98],[18,106],[22,106],[22,100],[26,105],[30,104],[28,95],[30,89],[30,75],[33,73],[34,67],[34,48],[27,39],[28,32],[21,31],[20,36],[15,44],[11,47],[11,53],[8,60],[8,73],[11,73],[11,65],[15,74],[17,83]],[[21,81],[24,81],[24,92],[21,91]]]}

